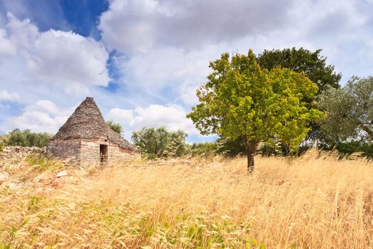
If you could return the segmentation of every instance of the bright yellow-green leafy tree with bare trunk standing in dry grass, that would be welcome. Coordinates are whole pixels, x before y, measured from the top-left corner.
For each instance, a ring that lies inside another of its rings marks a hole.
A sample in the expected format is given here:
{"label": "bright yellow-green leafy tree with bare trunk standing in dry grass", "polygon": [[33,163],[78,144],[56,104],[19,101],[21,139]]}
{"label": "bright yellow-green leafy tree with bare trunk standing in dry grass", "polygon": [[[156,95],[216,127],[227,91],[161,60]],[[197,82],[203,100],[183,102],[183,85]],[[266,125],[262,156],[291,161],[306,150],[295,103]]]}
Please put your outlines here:
{"label": "bright yellow-green leafy tree with bare trunk standing in dry grass", "polygon": [[310,121],[324,115],[303,101],[318,92],[318,86],[304,73],[261,68],[251,50],[232,58],[223,53],[210,63],[210,68],[207,83],[197,91],[199,104],[187,117],[202,134],[242,137],[249,171],[254,169],[259,142],[280,139],[295,149],[310,130]]}

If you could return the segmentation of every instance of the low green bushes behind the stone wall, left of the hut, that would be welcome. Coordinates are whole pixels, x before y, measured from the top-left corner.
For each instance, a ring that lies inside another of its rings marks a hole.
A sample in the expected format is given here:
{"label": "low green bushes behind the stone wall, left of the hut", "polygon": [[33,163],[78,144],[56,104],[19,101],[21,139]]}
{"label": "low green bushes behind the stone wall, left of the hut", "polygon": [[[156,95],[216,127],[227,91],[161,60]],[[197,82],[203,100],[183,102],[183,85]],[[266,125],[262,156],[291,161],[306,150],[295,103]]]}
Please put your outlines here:
{"label": "low green bushes behind the stone wall, left of the hut", "polygon": [[28,147],[45,147],[49,143],[49,139],[52,137],[48,133],[36,133],[31,132],[29,129],[21,131],[20,129],[13,129],[6,137],[4,144],[6,145],[17,145],[17,146],[28,146]]}

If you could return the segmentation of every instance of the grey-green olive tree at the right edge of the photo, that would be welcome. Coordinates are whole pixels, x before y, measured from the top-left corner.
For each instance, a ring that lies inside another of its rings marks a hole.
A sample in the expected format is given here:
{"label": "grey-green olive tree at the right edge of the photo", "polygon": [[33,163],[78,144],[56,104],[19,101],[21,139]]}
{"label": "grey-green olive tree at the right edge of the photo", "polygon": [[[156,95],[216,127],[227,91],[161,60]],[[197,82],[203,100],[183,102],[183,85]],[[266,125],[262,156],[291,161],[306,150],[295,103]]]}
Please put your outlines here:
{"label": "grey-green olive tree at the right edge of the photo", "polygon": [[321,131],[328,142],[349,139],[373,142],[373,77],[353,77],[342,89],[329,88],[319,106],[328,112]]}

